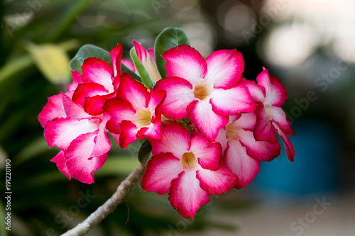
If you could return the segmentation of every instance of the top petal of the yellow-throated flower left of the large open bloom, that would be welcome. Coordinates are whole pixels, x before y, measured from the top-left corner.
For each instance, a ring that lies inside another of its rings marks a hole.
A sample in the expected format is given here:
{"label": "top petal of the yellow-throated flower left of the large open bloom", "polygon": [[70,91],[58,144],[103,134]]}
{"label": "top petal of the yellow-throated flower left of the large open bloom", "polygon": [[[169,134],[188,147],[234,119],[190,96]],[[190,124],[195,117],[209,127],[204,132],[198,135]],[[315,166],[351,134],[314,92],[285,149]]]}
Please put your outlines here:
{"label": "top petal of the yellow-throated flower left of the large open bloom", "polygon": [[117,89],[117,99],[129,101],[134,110],[139,111],[146,107],[149,93],[142,83],[131,78],[129,74],[122,74],[119,88]]}

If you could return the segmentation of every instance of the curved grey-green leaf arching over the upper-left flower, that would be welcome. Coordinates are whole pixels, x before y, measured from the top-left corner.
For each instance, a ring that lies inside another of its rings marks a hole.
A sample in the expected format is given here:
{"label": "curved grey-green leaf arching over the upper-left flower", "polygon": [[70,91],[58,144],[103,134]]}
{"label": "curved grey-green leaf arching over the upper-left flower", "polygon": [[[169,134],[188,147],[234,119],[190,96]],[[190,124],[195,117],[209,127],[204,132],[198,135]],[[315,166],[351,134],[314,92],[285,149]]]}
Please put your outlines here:
{"label": "curved grey-green leaf arching over the upper-left flower", "polygon": [[84,60],[89,57],[96,57],[101,60],[109,62],[111,65],[111,56],[107,50],[102,49],[101,47],[97,47],[95,45],[86,44],[80,47],[80,50],[77,52],[77,55],[72,58],[69,62],[69,67],[71,70],[75,70],[77,72],[82,72],[82,64]]}

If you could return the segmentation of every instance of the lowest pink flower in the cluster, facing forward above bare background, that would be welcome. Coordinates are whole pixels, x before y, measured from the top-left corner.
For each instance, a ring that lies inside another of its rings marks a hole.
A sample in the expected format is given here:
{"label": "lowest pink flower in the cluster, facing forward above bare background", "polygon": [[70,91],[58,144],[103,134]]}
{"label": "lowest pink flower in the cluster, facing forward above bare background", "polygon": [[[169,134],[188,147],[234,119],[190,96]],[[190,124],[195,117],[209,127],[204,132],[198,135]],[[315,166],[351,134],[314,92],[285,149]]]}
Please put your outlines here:
{"label": "lowest pink flower in the cluster, facing forward above bare background", "polygon": [[229,191],[238,178],[221,164],[221,146],[201,135],[191,137],[179,123],[165,121],[162,140],[149,140],[153,157],[143,174],[145,191],[165,194],[173,208],[185,218],[193,218],[209,194]]}

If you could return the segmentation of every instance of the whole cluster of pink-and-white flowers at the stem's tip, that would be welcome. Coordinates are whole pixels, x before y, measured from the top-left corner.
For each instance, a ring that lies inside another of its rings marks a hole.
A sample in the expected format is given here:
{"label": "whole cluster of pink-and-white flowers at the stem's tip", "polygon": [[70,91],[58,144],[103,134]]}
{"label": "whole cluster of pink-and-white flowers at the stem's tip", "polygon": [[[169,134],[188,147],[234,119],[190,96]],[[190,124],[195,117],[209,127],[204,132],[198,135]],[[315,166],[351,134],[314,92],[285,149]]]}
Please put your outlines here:
{"label": "whole cluster of pink-and-white flowers at the stem's tip", "polygon": [[168,193],[173,208],[193,218],[209,194],[245,187],[261,161],[280,154],[275,134],[293,162],[288,135],[295,134],[280,108],[287,93],[267,69],[249,81],[241,77],[240,52],[218,50],[204,59],[190,45],[178,45],[161,55],[167,74],[162,79],[151,50],[133,43],[153,87],[121,73],[121,63],[139,70],[121,59],[117,45],[109,52],[112,67],[85,59],[81,74],[72,71],[68,91],[50,97],[38,117],[48,145],[60,149],[51,161],[68,178],[94,181],[111,148],[107,133],[122,148],[146,139],[153,157],[143,189]]}

